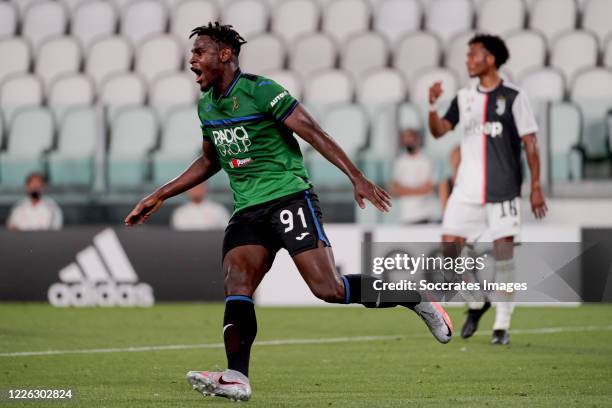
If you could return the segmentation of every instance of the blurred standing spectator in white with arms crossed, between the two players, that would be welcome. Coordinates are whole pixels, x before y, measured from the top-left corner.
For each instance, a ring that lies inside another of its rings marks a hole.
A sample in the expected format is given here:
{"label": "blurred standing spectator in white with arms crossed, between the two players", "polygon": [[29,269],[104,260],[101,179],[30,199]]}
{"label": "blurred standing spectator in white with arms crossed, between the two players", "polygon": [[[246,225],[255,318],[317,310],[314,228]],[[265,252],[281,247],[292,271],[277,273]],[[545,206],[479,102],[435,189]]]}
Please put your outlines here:
{"label": "blurred standing spectator in white with arms crossed, between the two players", "polygon": [[421,152],[421,135],[413,129],[400,132],[406,149],[395,161],[391,194],[399,197],[400,220],[407,224],[422,224],[434,217],[433,164]]}

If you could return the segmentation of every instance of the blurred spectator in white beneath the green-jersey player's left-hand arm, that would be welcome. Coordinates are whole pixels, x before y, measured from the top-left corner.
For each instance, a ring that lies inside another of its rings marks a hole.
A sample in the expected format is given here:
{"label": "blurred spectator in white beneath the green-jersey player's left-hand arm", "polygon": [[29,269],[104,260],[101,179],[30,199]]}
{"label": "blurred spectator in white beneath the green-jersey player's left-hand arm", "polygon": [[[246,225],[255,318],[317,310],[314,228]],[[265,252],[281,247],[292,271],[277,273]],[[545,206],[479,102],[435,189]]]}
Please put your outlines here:
{"label": "blurred spectator in white beneath the green-jersey player's left-hand arm", "polygon": [[187,191],[189,202],[172,213],[172,228],[178,230],[224,229],[229,213],[221,204],[206,200],[208,185],[198,184]]}

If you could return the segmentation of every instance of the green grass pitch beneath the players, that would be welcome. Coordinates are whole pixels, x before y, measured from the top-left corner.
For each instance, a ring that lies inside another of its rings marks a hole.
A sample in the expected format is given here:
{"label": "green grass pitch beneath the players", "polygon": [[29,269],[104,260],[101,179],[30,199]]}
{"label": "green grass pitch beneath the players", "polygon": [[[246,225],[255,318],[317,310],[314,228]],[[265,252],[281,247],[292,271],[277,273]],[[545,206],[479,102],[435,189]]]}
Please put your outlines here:
{"label": "green grass pitch beneath the players", "polygon": [[[257,308],[249,407],[612,406],[612,306],[517,308],[510,346],[479,333],[438,344],[403,308]],[[188,370],[225,364],[223,348],[7,356],[221,342],[223,305],[55,309],[0,304],[0,388],[72,388],[69,402],[0,406],[229,407],[192,391]],[[450,309],[459,330],[462,309]],[[550,328],[550,330],[544,330]],[[357,336],[389,336],[362,339]],[[337,339],[269,344],[270,340]],[[245,403],[238,403],[244,405]]]}

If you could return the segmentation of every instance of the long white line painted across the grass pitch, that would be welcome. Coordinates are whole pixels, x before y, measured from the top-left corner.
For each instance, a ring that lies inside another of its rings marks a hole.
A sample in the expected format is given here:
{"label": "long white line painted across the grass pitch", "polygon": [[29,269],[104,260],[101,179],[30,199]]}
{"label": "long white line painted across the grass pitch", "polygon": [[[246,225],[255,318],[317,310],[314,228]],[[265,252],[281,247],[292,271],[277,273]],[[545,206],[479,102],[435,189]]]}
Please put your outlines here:
{"label": "long white line painted across the grass pitch", "polygon": [[[512,329],[512,334],[554,334],[568,332],[585,331],[612,331],[610,326],[574,326],[574,327],[541,327],[536,329]],[[477,335],[488,336],[489,333],[481,331]],[[256,341],[254,346],[287,346],[295,344],[333,344],[367,342],[381,340],[397,340],[415,337],[431,337],[430,335],[388,335],[388,336],[354,336],[354,337],[329,337],[318,339],[278,339]],[[118,347],[100,349],[77,349],[77,350],[46,350],[46,351],[19,351],[14,353],[0,353],[0,357],[27,357],[27,356],[57,356],[65,354],[96,354],[96,353],[138,353],[145,351],[165,351],[165,350],[194,350],[223,348],[223,343],[203,343],[203,344],[169,344],[162,346],[142,346],[142,347]]]}

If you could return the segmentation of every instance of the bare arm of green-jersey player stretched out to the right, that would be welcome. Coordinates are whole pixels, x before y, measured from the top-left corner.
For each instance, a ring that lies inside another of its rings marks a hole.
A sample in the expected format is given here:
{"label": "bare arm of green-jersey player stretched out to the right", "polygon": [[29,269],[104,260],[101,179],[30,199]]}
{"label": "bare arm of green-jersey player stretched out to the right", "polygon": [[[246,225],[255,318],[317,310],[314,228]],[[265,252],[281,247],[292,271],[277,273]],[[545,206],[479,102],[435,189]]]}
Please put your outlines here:
{"label": "bare arm of green-jersey player stretched out to the right", "polygon": [[285,120],[285,125],[348,176],[353,183],[355,200],[359,207],[365,208],[365,202],[363,201],[365,198],[380,211],[389,211],[389,207],[391,207],[389,193],[368,180],[348,158],[344,150],[321,129],[304,108],[298,105]]}

